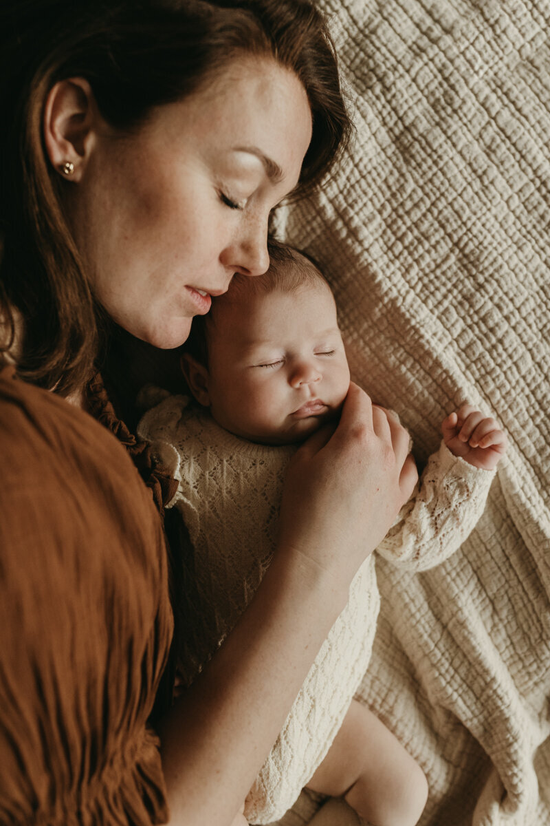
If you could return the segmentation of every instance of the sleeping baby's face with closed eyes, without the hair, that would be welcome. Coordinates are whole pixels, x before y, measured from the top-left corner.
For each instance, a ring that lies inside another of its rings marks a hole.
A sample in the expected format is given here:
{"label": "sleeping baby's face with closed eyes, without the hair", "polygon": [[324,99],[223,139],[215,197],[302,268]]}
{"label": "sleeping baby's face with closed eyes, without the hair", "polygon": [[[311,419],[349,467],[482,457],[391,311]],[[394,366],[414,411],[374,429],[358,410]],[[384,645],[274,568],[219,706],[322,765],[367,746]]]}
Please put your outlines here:
{"label": "sleeping baby's face with closed eyes, without the hair", "polygon": [[322,282],[216,308],[210,411],[226,430],[266,444],[305,439],[336,416],[349,386],[334,298]]}

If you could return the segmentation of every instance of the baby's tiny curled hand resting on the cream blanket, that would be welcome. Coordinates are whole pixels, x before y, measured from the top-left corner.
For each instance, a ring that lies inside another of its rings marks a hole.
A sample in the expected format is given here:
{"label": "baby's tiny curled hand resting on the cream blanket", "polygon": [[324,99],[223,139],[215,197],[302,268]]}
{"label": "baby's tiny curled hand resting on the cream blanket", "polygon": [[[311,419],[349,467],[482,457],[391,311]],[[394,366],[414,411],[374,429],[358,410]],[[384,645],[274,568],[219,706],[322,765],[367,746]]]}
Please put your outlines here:
{"label": "baby's tiny curled hand resting on the cream blanket", "polygon": [[508,446],[506,434],[496,421],[472,405],[463,405],[449,414],[441,431],[444,443],[454,456],[482,470],[496,468]]}

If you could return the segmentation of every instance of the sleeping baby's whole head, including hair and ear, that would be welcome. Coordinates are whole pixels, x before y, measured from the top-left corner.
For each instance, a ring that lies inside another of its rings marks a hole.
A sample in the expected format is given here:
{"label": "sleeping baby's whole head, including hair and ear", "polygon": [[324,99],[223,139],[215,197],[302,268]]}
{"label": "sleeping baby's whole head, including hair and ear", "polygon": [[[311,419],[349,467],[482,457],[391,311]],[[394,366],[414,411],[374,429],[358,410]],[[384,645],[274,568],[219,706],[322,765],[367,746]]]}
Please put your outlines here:
{"label": "sleeping baby's whole head, including hair and ear", "polygon": [[181,363],[219,425],[264,444],[305,439],[339,413],[350,385],[331,288],[279,243],[267,273],[235,275],[195,318]]}

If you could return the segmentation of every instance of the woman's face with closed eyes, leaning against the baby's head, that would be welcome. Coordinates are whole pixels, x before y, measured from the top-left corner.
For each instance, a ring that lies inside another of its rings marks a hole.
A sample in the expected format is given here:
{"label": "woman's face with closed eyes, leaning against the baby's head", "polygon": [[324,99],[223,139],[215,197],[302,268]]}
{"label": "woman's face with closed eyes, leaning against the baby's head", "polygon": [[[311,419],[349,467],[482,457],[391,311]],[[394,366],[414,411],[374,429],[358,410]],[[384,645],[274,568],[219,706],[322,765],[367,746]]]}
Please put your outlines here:
{"label": "woman's face with closed eyes, leaning against the baby's head", "polygon": [[78,249],[110,316],[176,347],[233,273],[266,271],[270,211],[298,183],[311,140],[305,90],[275,61],[243,58],[136,135],[98,122],[67,187]]}

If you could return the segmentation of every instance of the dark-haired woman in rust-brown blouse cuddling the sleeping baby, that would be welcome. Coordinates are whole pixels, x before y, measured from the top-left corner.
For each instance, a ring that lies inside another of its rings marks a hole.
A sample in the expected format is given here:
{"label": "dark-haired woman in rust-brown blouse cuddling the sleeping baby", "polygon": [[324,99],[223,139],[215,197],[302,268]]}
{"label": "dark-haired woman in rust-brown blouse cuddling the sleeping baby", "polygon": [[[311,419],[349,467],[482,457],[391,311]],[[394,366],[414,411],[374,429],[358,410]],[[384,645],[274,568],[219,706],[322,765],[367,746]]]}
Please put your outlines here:
{"label": "dark-haired woman in rust-brown blouse cuddling the sleeping baby", "polygon": [[157,704],[159,747],[167,556],[129,455],[157,505],[170,480],[96,370],[112,322],[176,347],[233,273],[267,268],[270,211],[345,140],[330,40],[306,0],[4,13],[0,819],[231,824],[411,492],[408,436],[352,387],[304,444],[275,561],[191,690]]}

